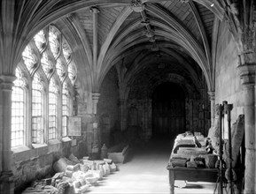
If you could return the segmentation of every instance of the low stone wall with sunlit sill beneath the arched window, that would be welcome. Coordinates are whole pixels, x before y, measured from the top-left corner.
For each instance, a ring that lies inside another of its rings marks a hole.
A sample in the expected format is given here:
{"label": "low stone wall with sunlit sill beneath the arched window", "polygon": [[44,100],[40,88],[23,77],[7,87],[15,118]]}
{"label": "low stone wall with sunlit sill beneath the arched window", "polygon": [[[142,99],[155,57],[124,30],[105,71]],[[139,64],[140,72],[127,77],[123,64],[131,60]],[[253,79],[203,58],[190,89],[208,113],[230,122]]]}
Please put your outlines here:
{"label": "low stone wall with sunlit sill beneath the arched window", "polygon": [[62,141],[55,140],[38,148],[14,150],[12,172],[16,192],[19,193],[19,190],[36,179],[54,175],[52,165],[60,157],[68,158],[71,153],[78,158],[88,155],[86,141],[82,137],[63,138]]}

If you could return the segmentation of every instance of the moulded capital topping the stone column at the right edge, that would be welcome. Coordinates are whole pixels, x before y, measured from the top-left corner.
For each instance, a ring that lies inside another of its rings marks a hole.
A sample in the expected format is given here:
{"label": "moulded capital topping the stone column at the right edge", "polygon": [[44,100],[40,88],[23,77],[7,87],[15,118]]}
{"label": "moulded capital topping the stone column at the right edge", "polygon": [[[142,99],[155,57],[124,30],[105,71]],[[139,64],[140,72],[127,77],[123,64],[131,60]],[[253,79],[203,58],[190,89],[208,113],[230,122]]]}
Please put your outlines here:
{"label": "moulded capital topping the stone column at the right edge", "polygon": [[242,85],[244,86],[255,85],[256,63],[239,65],[237,67],[237,71],[241,78]]}

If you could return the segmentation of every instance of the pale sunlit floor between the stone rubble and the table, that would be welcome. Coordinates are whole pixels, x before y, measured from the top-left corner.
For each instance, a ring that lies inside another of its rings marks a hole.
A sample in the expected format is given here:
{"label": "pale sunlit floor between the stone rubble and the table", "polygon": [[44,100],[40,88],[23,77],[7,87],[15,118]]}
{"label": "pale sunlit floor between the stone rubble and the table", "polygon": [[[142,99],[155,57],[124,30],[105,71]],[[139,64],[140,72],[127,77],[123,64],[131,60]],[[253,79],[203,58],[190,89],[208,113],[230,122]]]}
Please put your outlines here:
{"label": "pale sunlit floor between the stone rubble and the table", "polygon": [[[168,185],[167,161],[172,150],[172,143],[167,140],[151,141],[137,151],[125,164],[118,164],[119,171],[107,175],[96,186],[89,188],[89,194],[166,194]],[[175,193],[213,193],[215,183],[175,182]],[[217,192],[215,192],[217,193]]]}

